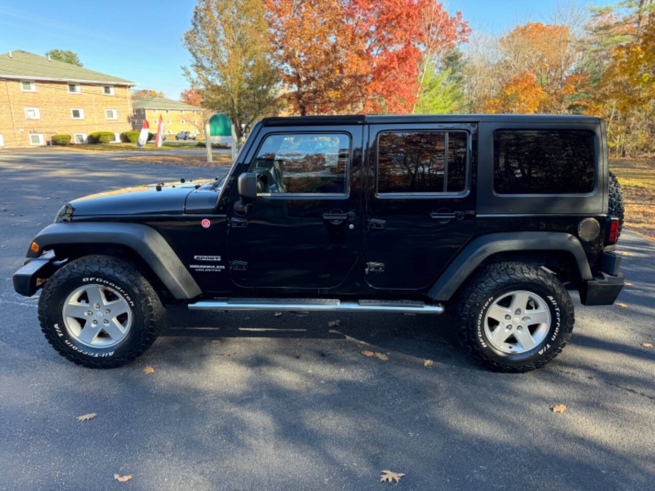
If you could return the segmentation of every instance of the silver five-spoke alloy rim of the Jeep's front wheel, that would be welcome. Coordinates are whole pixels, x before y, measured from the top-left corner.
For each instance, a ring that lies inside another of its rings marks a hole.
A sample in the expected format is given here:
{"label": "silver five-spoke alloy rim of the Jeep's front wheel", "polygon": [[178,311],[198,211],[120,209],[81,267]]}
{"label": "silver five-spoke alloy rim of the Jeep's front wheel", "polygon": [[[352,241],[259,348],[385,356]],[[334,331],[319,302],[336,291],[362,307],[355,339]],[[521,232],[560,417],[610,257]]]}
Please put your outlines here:
{"label": "silver five-spoke alloy rim of the Jeep's front wheel", "polygon": [[113,288],[87,284],[73,291],[64,302],[64,325],[75,340],[92,348],[119,344],[132,327],[132,308]]}

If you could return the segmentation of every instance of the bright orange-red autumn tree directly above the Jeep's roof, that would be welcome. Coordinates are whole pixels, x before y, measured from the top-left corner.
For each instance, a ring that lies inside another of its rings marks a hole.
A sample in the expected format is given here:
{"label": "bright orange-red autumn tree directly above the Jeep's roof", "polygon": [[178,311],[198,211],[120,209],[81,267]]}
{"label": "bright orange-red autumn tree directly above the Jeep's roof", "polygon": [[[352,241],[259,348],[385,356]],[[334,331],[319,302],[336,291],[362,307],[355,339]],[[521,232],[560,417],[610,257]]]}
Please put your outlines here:
{"label": "bright orange-red autumn tree directly above the Jeep's roof", "polygon": [[[421,61],[468,35],[435,0],[265,0],[294,111],[407,113]],[[432,14],[426,23],[426,12]]]}

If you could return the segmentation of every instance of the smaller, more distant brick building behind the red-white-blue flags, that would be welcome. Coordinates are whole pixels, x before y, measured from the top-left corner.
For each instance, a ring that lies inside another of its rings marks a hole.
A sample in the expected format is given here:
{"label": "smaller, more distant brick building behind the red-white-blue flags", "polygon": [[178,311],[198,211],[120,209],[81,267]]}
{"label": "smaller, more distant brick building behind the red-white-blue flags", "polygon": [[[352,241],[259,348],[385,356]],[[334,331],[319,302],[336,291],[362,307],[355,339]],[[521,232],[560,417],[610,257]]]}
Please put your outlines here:
{"label": "smaller, more distant brick building behind the red-white-blue flags", "polygon": [[204,120],[200,107],[164,97],[134,98],[133,130],[140,130],[143,120],[147,119],[150,131],[155,133],[160,116],[164,121],[166,135],[176,135],[181,131],[196,136],[203,134]]}

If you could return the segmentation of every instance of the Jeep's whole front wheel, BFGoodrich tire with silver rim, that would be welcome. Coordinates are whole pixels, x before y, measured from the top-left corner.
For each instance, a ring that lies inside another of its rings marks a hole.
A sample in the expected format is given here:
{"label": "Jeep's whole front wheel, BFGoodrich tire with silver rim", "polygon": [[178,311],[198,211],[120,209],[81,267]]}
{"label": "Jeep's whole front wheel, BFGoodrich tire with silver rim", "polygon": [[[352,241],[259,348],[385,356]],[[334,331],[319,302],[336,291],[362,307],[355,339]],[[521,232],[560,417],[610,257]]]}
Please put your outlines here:
{"label": "Jeep's whole front wheel, BFGoodrich tire with silver rim", "polygon": [[55,350],[89,368],[114,368],[157,338],[165,310],[136,264],[92,255],[48,280],[39,299],[41,330]]}

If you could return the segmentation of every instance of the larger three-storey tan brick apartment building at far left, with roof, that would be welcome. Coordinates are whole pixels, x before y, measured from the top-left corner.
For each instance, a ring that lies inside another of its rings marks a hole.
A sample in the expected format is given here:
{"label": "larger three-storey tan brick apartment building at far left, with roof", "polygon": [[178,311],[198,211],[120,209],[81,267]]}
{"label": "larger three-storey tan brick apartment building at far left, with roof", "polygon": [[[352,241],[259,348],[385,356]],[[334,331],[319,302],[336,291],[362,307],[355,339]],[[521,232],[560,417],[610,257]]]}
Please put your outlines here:
{"label": "larger three-storey tan brick apartment building at far left, with roof", "polygon": [[45,56],[0,54],[0,147],[45,145],[54,134],[86,143],[88,134],[131,129],[135,85]]}

